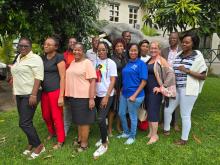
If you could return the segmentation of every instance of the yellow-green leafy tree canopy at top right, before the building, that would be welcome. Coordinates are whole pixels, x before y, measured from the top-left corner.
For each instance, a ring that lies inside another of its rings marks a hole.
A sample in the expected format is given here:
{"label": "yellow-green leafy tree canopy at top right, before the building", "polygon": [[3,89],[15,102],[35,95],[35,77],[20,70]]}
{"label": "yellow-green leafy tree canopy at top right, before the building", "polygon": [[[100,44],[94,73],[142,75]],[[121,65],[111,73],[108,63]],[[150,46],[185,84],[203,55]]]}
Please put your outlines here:
{"label": "yellow-green leafy tree canopy at top right, before the building", "polygon": [[140,0],[145,23],[164,32],[195,29],[202,35],[220,36],[219,0]]}

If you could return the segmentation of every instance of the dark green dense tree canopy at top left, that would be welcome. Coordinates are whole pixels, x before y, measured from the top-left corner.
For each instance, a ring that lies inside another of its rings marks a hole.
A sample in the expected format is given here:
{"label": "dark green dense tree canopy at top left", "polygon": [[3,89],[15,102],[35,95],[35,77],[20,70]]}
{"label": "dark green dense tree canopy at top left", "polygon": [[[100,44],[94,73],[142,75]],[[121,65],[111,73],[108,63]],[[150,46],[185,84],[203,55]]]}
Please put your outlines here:
{"label": "dark green dense tree canopy at top left", "polygon": [[[0,34],[27,36],[42,43],[56,34],[62,41],[94,33],[99,7],[105,0],[0,0]],[[64,42],[61,42],[64,43]]]}

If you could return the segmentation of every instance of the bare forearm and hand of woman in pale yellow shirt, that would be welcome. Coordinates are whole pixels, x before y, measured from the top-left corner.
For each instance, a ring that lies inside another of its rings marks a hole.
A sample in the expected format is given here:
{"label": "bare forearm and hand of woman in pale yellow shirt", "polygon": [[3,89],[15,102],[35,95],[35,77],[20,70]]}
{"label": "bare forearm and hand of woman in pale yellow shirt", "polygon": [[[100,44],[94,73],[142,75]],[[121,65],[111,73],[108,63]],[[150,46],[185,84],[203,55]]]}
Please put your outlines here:
{"label": "bare forearm and hand of woman in pale yellow shirt", "polygon": [[34,86],[31,92],[31,95],[29,97],[29,105],[30,106],[36,106],[37,105],[37,93],[40,87],[41,81],[38,79],[34,79]]}

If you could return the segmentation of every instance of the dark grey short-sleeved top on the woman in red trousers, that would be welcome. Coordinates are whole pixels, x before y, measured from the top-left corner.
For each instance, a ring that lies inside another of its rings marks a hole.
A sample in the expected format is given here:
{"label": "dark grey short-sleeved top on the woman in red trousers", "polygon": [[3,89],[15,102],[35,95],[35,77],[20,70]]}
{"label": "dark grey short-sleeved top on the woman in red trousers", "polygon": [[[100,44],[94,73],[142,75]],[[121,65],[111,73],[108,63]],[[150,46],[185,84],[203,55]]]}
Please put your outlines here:
{"label": "dark grey short-sleeved top on the woman in red trousers", "polygon": [[42,89],[45,92],[55,91],[60,88],[60,75],[57,64],[64,61],[62,54],[56,54],[52,59],[47,59],[47,56],[42,57],[44,62],[44,81]]}

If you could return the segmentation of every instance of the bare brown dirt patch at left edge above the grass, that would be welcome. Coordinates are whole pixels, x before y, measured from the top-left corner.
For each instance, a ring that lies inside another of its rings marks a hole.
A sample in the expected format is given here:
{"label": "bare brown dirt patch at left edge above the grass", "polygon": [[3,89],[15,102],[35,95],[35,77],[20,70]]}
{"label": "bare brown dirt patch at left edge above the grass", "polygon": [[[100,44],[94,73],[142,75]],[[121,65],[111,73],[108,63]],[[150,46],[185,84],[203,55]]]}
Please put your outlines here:
{"label": "bare brown dirt patch at left edge above the grass", "polygon": [[0,81],[0,111],[12,110],[16,107],[12,95],[12,87],[6,81]]}

